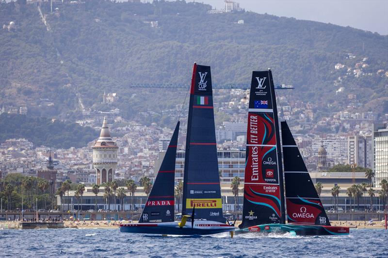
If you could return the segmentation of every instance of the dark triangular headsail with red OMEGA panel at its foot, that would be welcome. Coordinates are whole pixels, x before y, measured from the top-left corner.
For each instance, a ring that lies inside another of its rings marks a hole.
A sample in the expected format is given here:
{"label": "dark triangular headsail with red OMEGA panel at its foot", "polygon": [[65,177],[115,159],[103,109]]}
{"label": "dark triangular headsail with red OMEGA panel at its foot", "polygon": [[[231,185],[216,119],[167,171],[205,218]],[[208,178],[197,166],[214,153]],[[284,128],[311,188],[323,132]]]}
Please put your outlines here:
{"label": "dark triangular headsail with red OMEGA panel at its foot", "polygon": [[320,197],[286,121],[281,122],[287,220],[289,223],[330,226]]}

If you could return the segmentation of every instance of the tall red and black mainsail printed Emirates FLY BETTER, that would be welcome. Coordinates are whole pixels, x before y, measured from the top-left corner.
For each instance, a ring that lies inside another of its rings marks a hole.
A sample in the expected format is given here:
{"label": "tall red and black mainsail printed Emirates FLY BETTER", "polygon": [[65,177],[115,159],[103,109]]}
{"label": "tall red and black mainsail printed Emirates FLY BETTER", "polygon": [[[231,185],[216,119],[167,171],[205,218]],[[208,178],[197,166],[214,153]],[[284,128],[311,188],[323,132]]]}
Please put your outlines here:
{"label": "tall red and black mainsail printed Emirates FLY BETTER", "polygon": [[271,71],[253,72],[240,228],[285,223],[275,88]]}

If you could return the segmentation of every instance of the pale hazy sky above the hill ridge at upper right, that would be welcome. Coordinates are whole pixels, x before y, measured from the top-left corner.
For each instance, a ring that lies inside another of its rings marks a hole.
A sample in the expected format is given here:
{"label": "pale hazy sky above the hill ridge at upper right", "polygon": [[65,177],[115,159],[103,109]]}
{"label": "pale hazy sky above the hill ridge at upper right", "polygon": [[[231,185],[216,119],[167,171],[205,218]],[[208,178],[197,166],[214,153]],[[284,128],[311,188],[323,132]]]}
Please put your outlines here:
{"label": "pale hazy sky above the hill ridge at upper right", "polygon": [[[186,0],[191,1],[191,0]],[[223,9],[224,0],[195,0]],[[236,0],[245,11],[388,34],[388,0]]]}

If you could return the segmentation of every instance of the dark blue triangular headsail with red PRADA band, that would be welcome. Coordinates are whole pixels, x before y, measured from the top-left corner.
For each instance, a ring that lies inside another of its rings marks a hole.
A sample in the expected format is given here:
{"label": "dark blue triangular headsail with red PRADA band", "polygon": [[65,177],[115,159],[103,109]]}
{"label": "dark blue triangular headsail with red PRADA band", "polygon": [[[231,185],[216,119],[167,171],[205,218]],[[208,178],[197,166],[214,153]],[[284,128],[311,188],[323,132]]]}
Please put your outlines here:
{"label": "dark blue triangular headsail with red PRADA band", "polygon": [[179,121],[164,155],[139,223],[174,221],[174,179]]}

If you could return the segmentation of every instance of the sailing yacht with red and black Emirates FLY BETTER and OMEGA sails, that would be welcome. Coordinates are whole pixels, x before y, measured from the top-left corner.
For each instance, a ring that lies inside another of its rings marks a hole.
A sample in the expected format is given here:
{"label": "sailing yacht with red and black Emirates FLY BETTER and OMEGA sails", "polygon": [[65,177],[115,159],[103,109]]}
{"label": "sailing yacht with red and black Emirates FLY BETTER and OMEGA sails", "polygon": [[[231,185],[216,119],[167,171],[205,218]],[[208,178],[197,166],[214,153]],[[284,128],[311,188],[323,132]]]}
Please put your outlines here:
{"label": "sailing yacht with red and black Emirates FLY BETTER and OMEGA sails", "polygon": [[286,121],[281,122],[281,132],[282,146],[272,72],[255,71],[248,110],[242,224],[235,233],[349,234],[347,227],[330,225]]}

